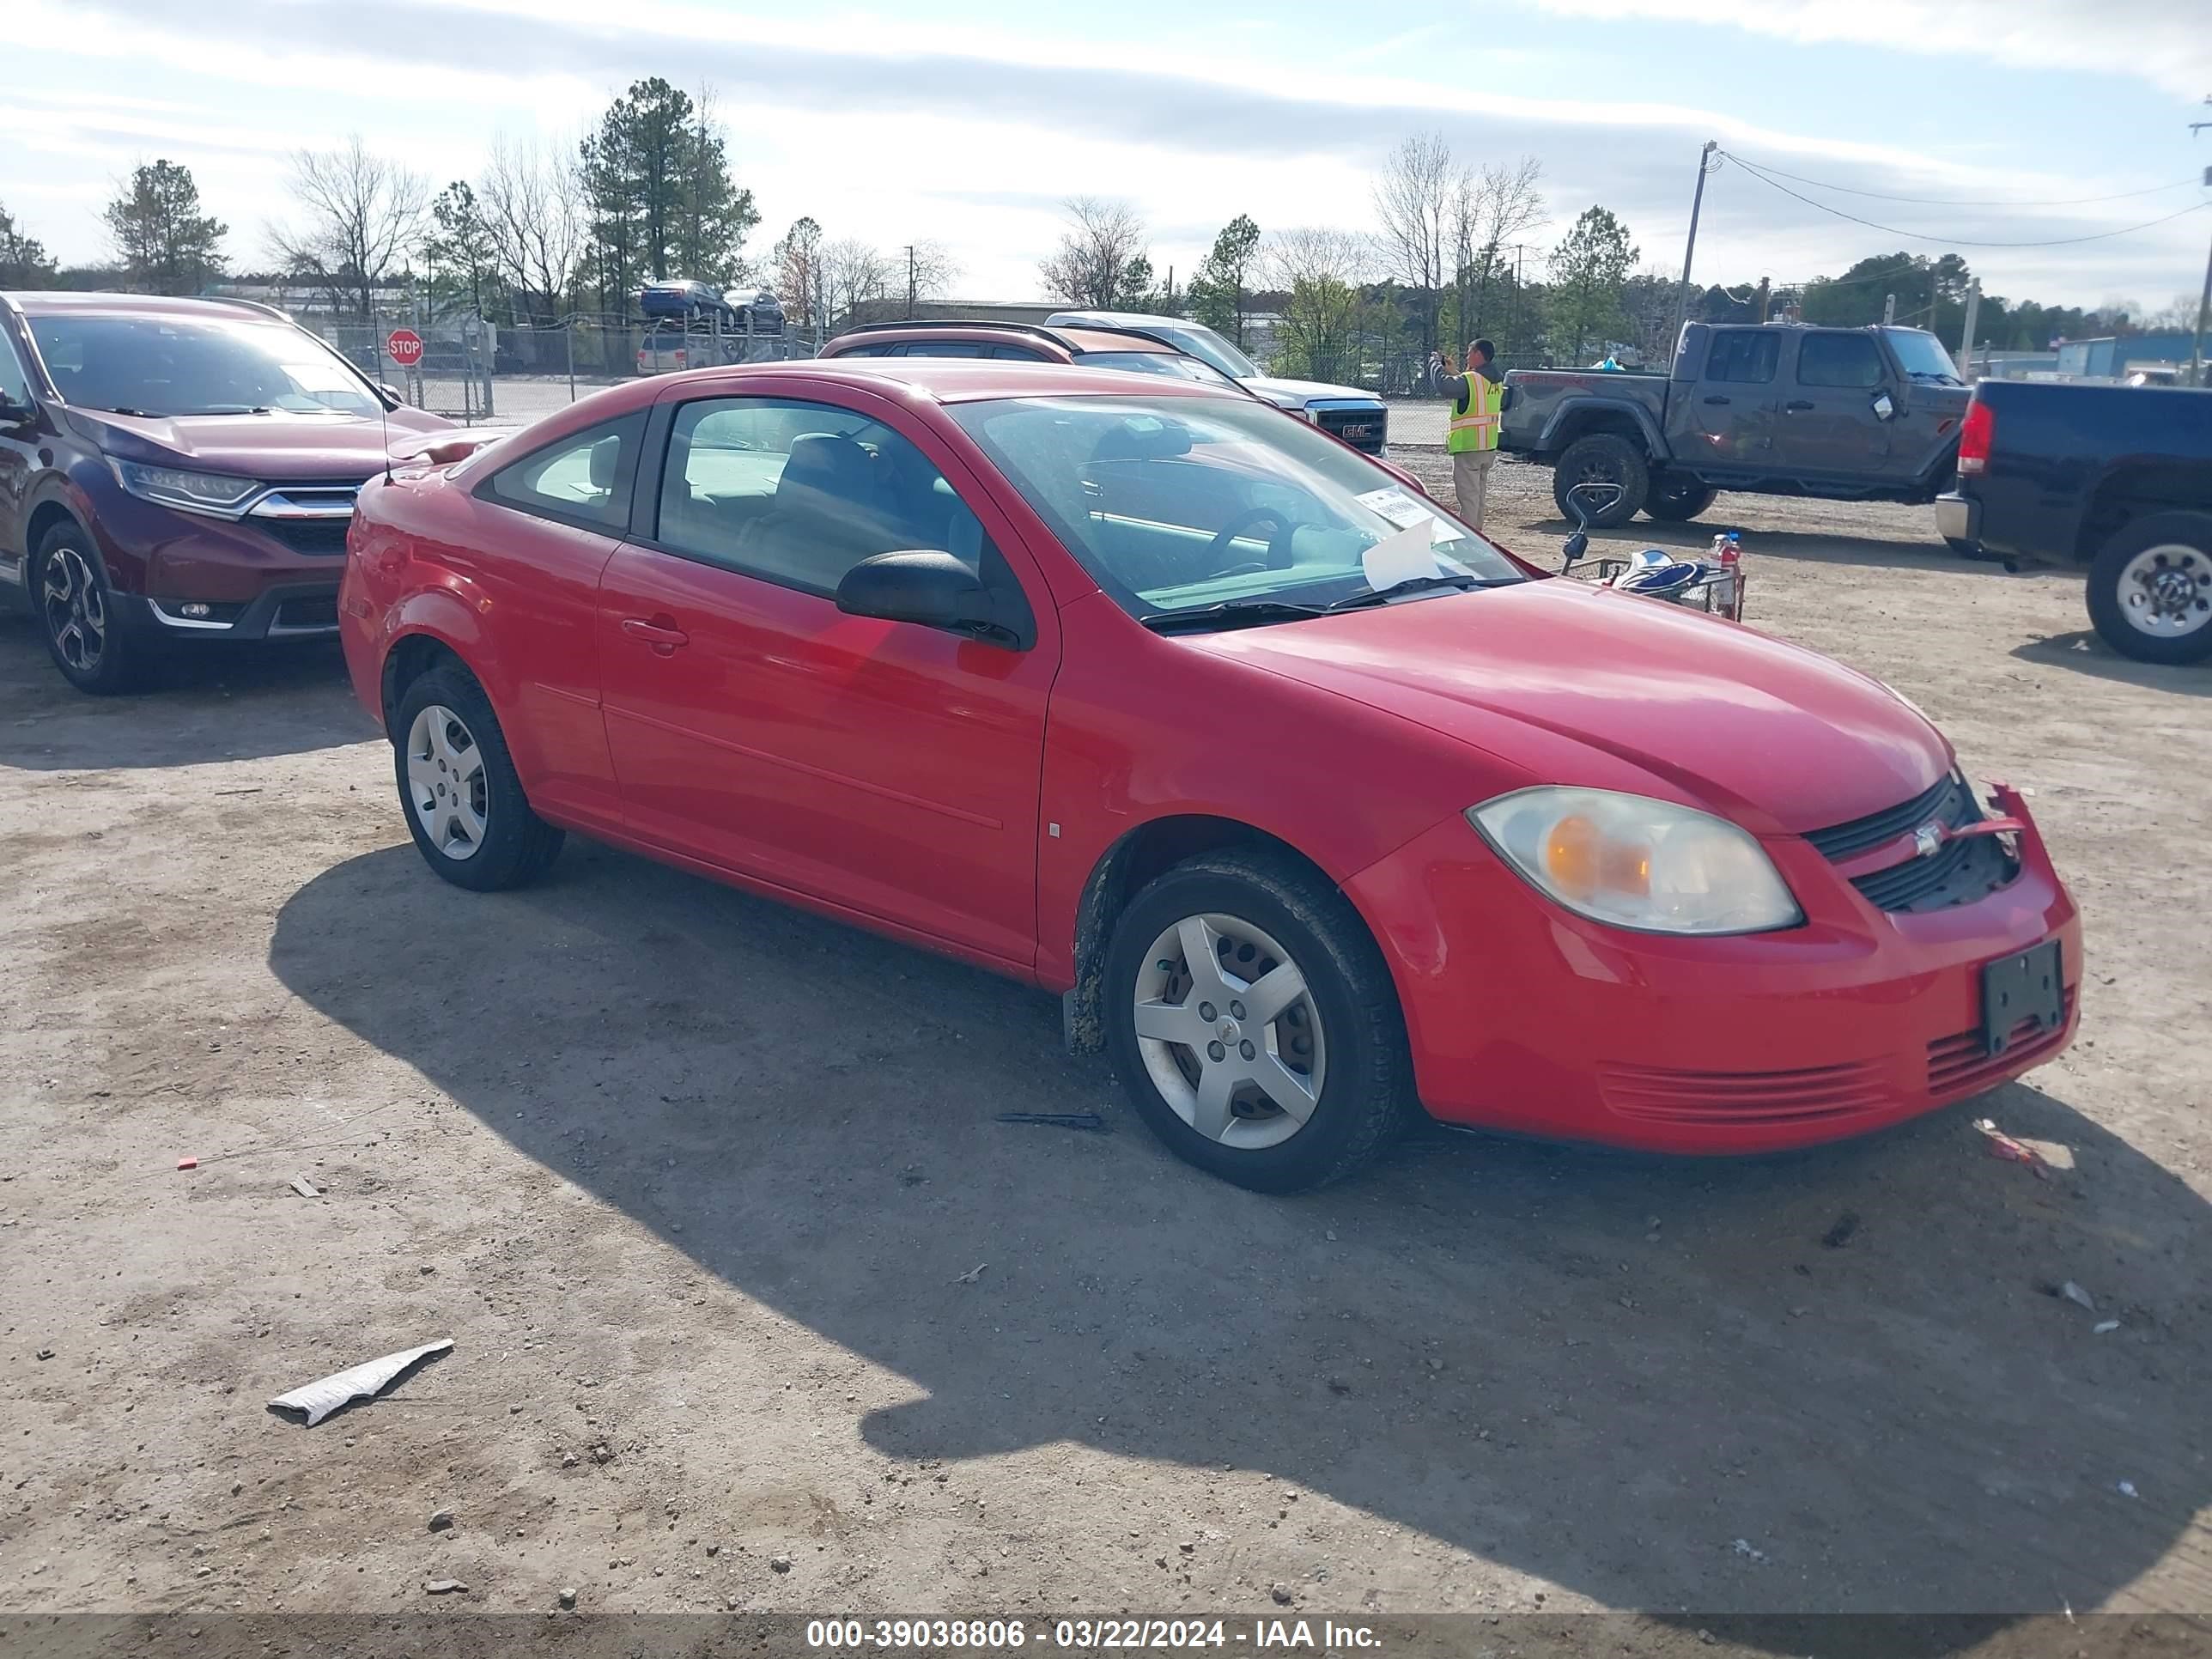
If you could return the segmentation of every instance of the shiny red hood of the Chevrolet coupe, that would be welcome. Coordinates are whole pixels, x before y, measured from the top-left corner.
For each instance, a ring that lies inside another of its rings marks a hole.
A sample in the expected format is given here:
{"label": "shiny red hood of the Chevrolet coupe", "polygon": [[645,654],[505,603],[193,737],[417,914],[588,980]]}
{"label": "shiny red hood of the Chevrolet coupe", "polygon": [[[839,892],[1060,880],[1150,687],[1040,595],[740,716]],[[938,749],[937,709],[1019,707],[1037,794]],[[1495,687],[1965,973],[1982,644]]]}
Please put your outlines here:
{"label": "shiny red hood of the Chevrolet coupe", "polygon": [[1179,641],[1455,737],[1526,783],[1659,781],[1754,834],[1893,807],[1953,763],[1933,726],[1854,668],[1586,582]]}

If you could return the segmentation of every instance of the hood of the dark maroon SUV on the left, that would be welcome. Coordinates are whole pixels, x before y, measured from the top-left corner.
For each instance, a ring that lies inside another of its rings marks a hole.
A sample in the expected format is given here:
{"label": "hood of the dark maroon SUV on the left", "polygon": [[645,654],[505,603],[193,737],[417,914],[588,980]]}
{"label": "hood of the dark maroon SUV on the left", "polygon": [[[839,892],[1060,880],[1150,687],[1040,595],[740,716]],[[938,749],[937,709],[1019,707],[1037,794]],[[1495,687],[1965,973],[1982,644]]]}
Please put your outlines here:
{"label": "hood of the dark maroon SUV on the left", "polygon": [[363,416],[119,416],[71,409],[71,422],[106,453],[148,467],[263,478],[268,482],[354,482],[385,465],[409,438],[447,431],[422,409],[394,409],[383,422]]}

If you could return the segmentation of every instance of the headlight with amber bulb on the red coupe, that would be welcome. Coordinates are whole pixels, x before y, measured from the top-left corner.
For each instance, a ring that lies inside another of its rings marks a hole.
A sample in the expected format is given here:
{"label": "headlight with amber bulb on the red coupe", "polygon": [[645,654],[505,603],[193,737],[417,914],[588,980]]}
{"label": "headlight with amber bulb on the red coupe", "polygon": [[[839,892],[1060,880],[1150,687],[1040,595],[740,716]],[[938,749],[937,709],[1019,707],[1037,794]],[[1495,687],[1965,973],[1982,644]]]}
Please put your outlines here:
{"label": "headlight with amber bulb on the red coupe", "polygon": [[1705,812],[1613,790],[1517,790],[1467,821],[1577,916],[1644,933],[1765,933],[1803,914],[1761,845]]}

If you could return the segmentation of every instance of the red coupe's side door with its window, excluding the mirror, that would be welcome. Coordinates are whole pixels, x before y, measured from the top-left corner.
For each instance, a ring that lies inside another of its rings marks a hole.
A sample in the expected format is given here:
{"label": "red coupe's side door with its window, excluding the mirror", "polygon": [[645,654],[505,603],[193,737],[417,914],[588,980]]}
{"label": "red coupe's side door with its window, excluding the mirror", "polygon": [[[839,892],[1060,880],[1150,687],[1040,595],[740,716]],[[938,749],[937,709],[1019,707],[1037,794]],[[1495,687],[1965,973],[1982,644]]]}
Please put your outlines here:
{"label": "red coupe's side door with its window, excluding the mirror", "polygon": [[[664,407],[650,522],[599,591],[628,821],[686,858],[1026,971],[1057,619],[953,451],[887,398],[838,396]],[[916,546],[1018,595],[1024,644],[836,608],[845,571]]]}

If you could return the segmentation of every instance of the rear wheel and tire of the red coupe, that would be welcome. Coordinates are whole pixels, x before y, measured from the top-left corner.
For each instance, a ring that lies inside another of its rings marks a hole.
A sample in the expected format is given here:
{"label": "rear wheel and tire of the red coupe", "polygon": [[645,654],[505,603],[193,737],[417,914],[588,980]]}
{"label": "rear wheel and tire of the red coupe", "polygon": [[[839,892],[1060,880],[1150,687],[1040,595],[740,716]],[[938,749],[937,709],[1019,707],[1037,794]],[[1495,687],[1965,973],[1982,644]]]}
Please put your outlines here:
{"label": "rear wheel and tire of the red coupe", "polygon": [[456,887],[524,887],[560,854],[562,832],[531,812],[491,699],[462,670],[431,668],[400,697],[392,765],[416,852]]}

